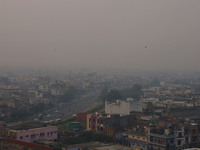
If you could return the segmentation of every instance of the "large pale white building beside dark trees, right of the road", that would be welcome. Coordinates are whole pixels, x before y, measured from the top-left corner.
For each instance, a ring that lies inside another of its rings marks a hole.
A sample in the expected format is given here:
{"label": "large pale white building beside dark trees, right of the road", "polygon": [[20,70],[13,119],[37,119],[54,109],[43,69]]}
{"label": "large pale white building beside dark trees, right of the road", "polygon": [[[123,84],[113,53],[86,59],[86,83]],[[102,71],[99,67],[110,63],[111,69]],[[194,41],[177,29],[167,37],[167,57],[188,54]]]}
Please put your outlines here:
{"label": "large pale white building beside dark trees, right of the road", "polygon": [[132,98],[117,100],[116,102],[105,102],[106,114],[130,115],[130,112],[143,112],[142,103]]}

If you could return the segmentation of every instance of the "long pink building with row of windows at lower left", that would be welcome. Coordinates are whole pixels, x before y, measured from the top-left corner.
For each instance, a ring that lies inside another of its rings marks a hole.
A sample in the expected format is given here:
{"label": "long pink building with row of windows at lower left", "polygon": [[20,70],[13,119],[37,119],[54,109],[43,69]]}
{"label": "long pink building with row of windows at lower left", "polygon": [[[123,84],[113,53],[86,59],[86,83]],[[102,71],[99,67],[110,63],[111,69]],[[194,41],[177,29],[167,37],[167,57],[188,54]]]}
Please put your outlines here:
{"label": "long pink building with row of windows at lower left", "polygon": [[28,143],[32,143],[38,140],[56,141],[57,127],[48,126],[29,130],[10,130],[8,132],[8,135],[9,137],[15,140],[24,141]]}

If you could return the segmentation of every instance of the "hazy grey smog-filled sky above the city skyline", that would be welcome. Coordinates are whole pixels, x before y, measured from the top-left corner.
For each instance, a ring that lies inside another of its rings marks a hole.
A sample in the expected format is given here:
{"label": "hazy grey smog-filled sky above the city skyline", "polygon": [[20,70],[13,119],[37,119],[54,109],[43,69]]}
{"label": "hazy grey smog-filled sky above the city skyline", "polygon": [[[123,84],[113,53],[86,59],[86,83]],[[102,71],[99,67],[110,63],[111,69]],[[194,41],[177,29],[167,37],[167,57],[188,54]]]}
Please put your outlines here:
{"label": "hazy grey smog-filled sky above the city skyline", "polygon": [[200,70],[200,0],[0,0],[5,66]]}

